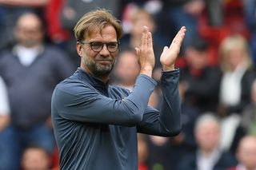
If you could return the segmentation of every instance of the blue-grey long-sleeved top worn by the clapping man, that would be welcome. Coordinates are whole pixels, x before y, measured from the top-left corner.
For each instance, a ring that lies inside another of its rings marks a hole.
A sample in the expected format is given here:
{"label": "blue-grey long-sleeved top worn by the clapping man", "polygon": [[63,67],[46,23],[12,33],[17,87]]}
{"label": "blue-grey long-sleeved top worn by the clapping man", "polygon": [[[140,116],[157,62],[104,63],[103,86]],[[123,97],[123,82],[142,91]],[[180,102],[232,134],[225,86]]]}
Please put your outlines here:
{"label": "blue-grey long-sleeved top worn by the clapping man", "polygon": [[163,72],[160,111],[147,106],[156,82],[138,76],[133,92],[78,70],[52,97],[61,169],[138,169],[137,132],[174,136],[181,130],[179,70]]}

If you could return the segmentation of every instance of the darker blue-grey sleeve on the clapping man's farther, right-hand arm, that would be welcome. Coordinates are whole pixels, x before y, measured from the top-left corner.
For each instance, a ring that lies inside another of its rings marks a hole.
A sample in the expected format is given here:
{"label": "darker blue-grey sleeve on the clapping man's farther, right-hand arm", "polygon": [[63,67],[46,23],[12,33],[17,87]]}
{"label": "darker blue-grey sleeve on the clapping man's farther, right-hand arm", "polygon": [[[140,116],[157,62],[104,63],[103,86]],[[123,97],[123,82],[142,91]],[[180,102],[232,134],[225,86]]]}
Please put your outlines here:
{"label": "darker blue-grey sleeve on the clapping man's farther, right-hand arm", "polygon": [[179,69],[163,72],[161,77],[162,106],[160,111],[147,107],[138,132],[175,136],[182,128],[181,100],[178,93]]}

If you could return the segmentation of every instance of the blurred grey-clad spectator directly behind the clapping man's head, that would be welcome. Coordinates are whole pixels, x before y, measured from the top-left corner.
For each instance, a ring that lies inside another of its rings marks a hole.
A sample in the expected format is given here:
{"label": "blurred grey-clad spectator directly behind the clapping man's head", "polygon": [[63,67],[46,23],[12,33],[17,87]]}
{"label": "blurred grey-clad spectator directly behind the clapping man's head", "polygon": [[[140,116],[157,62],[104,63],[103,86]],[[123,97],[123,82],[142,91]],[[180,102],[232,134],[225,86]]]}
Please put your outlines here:
{"label": "blurred grey-clad spectator directly behind the clapping man's head", "polygon": [[61,26],[64,30],[70,32],[70,39],[66,42],[66,49],[72,57],[72,61],[74,61],[75,65],[80,64],[80,60],[78,57],[78,53],[76,51],[76,42],[77,40],[74,38],[73,29],[78,22],[78,19],[82,17],[83,14],[86,14],[90,10],[94,10],[96,8],[105,8],[106,10],[110,10],[112,14],[116,18],[120,18],[120,1],[119,0],[64,0],[62,10],[60,13],[60,22]]}

